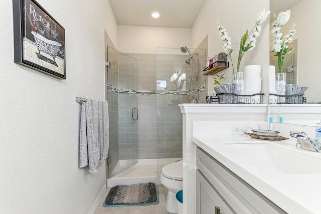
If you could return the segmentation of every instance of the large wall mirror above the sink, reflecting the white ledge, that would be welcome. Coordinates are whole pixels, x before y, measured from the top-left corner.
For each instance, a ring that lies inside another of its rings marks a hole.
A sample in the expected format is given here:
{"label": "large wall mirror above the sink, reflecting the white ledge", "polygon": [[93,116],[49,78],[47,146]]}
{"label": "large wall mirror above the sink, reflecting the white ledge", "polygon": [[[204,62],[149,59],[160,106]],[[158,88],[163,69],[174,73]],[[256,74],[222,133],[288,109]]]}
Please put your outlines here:
{"label": "large wall mirror above the sink, reflecting the white ledge", "polygon": [[[294,40],[293,43],[290,44],[294,45],[294,48],[292,52],[287,54],[288,59],[284,60],[290,61],[293,64],[294,70],[290,70],[291,65],[287,65],[285,69],[283,66],[282,69],[282,72],[286,72],[286,84],[297,84],[298,86],[308,87],[304,92],[306,104],[270,105],[273,106],[273,113],[276,114],[276,117],[273,115],[274,122],[278,122],[280,115],[284,123],[291,124],[305,124],[306,120],[313,120],[313,122],[305,125],[314,126],[314,120],[319,121],[319,119],[321,119],[321,105],[315,105],[321,104],[321,93],[319,93],[321,69],[318,68],[318,62],[321,59],[321,49],[319,49],[318,45],[319,35],[321,35],[321,29],[319,28],[321,20],[318,9],[321,9],[321,1],[319,0],[270,0],[270,31],[273,23],[273,14],[277,15],[281,11],[291,11],[289,21],[282,27],[283,35],[289,32],[293,24],[296,25]],[[272,38],[270,33],[270,44],[271,43]],[[272,50],[271,45],[270,50]],[[271,62],[273,55],[273,52],[270,53],[270,64],[273,64],[273,62]],[[275,67],[275,72],[278,73],[277,66]],[[269,103],[275,103],[270,102],[270,100],[271,96]],[[309,117],[306,117],[306,113],[309,112],[313,113],[310,113]],[[293,119],[294,117],[296,119]]]}

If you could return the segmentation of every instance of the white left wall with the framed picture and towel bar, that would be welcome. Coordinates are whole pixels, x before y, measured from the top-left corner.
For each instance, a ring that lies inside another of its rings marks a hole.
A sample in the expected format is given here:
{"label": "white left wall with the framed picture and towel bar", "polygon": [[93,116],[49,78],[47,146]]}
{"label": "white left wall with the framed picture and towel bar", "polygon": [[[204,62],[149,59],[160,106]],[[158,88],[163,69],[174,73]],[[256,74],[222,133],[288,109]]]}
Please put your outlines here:
{"label": "white left wall with the framed picture and towel bar", "polygon": [[0,7],[0,212],[88,213],[105,183],[78,168],[76,96],[104,99],[104,31],[117,43],[108,1],[37,1],[64,28],[66,80],[14,63],[12,1]]}

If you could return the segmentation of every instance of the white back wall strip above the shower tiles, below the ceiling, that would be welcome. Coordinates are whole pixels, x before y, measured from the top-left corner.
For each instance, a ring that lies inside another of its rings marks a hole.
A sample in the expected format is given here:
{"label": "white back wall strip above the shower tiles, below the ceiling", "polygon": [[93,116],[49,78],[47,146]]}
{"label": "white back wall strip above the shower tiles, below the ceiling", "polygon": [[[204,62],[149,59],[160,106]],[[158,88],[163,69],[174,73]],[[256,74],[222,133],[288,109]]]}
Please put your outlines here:
{"label": "white back wall strip above the shower tiles, below the ceiling", "polygon": [[156,48],[191,47],[191,29],[141,26],[118,26],[118,51],[156,54]]}

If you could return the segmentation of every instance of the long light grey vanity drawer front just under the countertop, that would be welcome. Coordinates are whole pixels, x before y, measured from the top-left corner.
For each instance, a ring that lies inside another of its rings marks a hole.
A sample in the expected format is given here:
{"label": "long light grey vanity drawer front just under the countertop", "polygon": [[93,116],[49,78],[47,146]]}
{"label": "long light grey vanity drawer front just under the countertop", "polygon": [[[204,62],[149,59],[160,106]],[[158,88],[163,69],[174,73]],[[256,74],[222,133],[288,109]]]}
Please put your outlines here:
{"label": "long light grey vanity drawer front just under the countertop", "polygon": [[196,153],[197,168],[236,213],[286,213],[203,149]]}

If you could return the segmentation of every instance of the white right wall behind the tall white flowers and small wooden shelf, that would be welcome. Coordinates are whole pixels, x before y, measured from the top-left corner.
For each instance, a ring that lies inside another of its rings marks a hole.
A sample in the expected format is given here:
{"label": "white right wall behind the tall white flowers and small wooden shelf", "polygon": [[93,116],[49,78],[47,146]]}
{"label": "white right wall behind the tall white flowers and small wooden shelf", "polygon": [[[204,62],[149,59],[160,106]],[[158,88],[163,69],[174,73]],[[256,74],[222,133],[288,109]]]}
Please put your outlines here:
{"label": "white right wall behind the tall white flowers and small wooden shelf", "polygon": [[[255,1],[255,0],[227,0],[216,1],[207,0],[200,12],[196,22],[192,28],[192,46],[199,44],[206,35],[209,36],[209,57],[213,57],[220,52],[224,52],[222,48],[223,41],[219,36],[217,29],[217,20],[220,20],[223,28],[229,32],[232,38],[232,59],[234,66],[237,66],[237,58],[239,51],[239,44],[241,37],[246,30],[252,30],[255,24],[257,13],[262,9],[269,10],[269,0]],[[237,44],[237,46],[236,46]],[[262,77],[262,93],[265,93],[264,101],[267,103],[268,99],[268,65],[269,65],[269,22],[268,19],[262,25],[262,32],[256,43],[256,47],[251,52],[246,52],[240,65],[242,71],[246,65],[261,65]],[[236,68],[235,68],[236,69]],[[227,77],[223,83],[232,83],[232,66],[225,69],[220,74],[225,73]],[[209,86],[212,86],[214,81],[212,76],[208,78]],[[213,88],[208,87],[208,92]]]}

